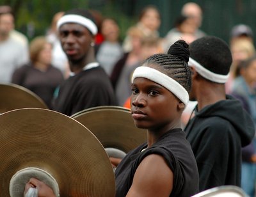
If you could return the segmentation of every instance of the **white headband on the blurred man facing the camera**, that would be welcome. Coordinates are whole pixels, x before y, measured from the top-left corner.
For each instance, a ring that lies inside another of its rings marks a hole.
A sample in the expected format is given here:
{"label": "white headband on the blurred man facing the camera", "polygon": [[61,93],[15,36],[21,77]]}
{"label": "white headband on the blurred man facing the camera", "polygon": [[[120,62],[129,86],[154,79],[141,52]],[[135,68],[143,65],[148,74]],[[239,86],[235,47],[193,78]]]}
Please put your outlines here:
{"label": "white headband on the blurred man facing the camera", "polygon": [[98,32],[97,26],[95,25],[95,23],[92,20],[87,19],[86,17],[83,17],[81,15],[76,15],[76,14],[63,15],[63,17],[61,17],[60,20],[58,20],[58,22],[57,22],[57,29],[59,29],[60,26],[62,26],[63,24],[65,24],[67,22],[70,22],[70,23],[74,22],[77,24],[81,24],[82,26],[89,29],[93,35],[96,35]]}

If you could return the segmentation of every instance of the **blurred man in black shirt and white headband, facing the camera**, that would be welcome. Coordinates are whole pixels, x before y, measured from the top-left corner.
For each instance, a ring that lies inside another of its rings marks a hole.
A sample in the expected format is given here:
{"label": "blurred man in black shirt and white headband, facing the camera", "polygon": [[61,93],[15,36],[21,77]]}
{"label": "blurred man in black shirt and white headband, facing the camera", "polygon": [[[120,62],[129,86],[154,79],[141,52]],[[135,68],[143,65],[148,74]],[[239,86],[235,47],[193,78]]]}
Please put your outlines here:
{"label": "blurred man in black shirt and white headband, facing the camera", "polygon": [[54,109],[70,116],[90,107],[114,106],[116,99],[109,77],[95,60],[97,26],[90,12],[66,12],[58,20],[57,29],[72,74],[61,84]]}

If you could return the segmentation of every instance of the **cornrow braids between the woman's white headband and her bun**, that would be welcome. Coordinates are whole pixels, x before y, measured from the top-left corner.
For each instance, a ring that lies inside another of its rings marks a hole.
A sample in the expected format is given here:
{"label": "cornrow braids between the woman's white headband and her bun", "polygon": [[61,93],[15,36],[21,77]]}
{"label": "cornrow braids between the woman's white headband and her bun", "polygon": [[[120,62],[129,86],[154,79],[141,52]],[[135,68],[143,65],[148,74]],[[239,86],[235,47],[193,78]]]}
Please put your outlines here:
{"label": "cornrow braids between the woman's white headband and her bun", "polygon": [[169,77],[172,77],[188,92],[191,90],[191,70],[188,63],[172,54],[155,54],[145,60],[147,64],[158,65]]}

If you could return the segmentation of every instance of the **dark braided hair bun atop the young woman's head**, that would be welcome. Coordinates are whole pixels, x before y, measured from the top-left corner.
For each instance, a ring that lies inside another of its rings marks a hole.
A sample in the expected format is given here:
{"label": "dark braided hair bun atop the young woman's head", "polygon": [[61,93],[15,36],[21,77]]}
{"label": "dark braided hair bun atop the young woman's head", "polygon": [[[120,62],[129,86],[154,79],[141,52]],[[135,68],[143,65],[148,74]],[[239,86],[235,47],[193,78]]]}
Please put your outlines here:
{"label": "dark braided hair bun atop the young woman's head", "polygon": [[178,40],[173,43],[167,53],[176,56],[187,63],[189,61],[189,45],[184,40]]}

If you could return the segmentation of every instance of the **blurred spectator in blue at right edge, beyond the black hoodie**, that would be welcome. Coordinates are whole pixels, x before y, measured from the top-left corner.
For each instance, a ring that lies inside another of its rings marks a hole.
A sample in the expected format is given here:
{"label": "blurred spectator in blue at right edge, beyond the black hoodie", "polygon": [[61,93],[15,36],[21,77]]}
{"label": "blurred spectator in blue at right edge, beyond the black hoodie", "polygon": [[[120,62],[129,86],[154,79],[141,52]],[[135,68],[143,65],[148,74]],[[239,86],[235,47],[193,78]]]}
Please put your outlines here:
{"label": "blurred spectator in blue at right edge, beyond the black hoodie", "polygon": [[[244,109],[250,113],[256,125],[256,57],[240,64],[240,75],[234,80],[232,95],[239,99]],[[245,146],[242,152],[241,188],[250,196],[255,196],[256,183],[256,139]]]}

